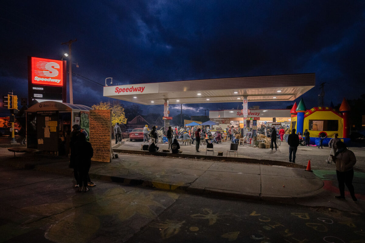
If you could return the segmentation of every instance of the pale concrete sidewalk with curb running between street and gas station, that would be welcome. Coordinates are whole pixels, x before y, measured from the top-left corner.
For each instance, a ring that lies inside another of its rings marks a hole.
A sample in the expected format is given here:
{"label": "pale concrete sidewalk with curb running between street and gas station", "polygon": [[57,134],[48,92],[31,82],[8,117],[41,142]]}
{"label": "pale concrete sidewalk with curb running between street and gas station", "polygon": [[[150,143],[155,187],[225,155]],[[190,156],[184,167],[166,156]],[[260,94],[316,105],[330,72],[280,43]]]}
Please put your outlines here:
{"label": "pale concrete sidewalk with curb running between street and gas station", "polygon": [[[73,169],[68,168],[68,158],[37,156],[35,159],[22,153],[14,158],[11,152],[0,148],[0,159],[3,164],[18,168],[35,168],[73,177]],[[106,180],[174,192],[323,206],[364,213],[364,195],[357,194],[357,203],[348,195],[347,200],[334,199],[338,194],[338,190],[333,189],[335,184],[323,187],[328,181],[335,183],[333,178],[326,178],[326,173],[321,172],[318,177],[304,169],[284,166],[131,154],[119,154],[119,158],[111,163],[92,162],[89,172],[94,182]],[[365,177],[361,172],[357,175]],[[70,178],[70,184],[71,181]],[[356,192],[362,190],[364,193],[363,178],[354,182],[357,183]]]}

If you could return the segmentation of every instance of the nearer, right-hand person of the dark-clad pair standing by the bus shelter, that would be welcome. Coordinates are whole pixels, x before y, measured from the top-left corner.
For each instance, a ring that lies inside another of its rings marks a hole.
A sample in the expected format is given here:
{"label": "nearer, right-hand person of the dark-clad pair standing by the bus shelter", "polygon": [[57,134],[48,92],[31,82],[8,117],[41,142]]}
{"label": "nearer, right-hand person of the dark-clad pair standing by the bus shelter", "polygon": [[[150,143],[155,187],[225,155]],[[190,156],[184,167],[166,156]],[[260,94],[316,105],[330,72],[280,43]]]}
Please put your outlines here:
{"label": "nearer, right-hand person of the dark-clad pair standing by the bus shelter", "polygon": [[75,143],[76,149],[76,168],[78,171],[78,182],[80,185],[80,191],[89,191],[88,188],[88,178],[89,169],[91,166],[91,158],[94,155],[94,150],[91,143],[86,141],[86,136],[84,133],[77,135],[77,142]]}

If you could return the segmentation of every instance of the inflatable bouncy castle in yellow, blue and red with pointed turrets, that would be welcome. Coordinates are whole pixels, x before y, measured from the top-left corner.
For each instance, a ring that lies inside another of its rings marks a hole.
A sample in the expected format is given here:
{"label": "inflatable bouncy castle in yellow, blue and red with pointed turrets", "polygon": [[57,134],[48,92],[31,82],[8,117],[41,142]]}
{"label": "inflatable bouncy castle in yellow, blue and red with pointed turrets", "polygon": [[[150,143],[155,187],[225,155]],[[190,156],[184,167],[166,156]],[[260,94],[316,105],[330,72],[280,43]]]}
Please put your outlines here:
{"label": "inflatable bouncy castle in yellow, blue and red with pointed turrets", "polygon": [[310,133],[311,144],[316,144],[316,139],[320,134],[326,134],[327,138],[323,140],[323,145],[328,146],[328,142],[338,133],[338,138],[345,144],[350,143],[349,132],[349,111],[350,106],[346,99],[343,98],[339,110],[332,107],[313,107],[306,109],[303,98],[299,104],[294,103],[291,114],[290,129],[295,128],[296,133],[303,135],[305,129]]}

